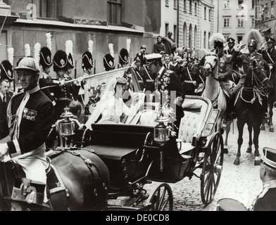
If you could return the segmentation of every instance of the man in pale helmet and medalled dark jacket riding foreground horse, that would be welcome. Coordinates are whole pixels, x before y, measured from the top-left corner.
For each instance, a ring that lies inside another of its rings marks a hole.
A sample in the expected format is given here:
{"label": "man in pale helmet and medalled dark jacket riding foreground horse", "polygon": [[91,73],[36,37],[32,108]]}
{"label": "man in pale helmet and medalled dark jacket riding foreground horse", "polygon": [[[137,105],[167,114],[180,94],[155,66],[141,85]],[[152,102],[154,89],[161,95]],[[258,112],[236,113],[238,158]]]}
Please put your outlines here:
{"label": "man in pale helmet and medalled dark jacket riding foreground horse", "polygon": [[24,91],[8,103],[10,134],[0,141],[0,160],[20,165],[25,174],[18,176],[46,184],[45,141],[54,123],[54,105],[39,88],[40,69],[34,58],[23,58],[15,70]]}

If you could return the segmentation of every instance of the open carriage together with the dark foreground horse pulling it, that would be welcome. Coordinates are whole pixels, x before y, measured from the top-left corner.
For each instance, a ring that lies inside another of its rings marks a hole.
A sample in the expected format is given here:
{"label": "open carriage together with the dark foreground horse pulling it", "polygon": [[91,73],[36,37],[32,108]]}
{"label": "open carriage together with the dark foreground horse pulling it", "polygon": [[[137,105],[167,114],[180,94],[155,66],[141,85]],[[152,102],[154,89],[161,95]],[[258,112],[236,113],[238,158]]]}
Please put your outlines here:
{"label": "open carriage together with the dark foreground horse pulling it", "polygon": [[[58,133],[57,148],[53,136],[46,141],[51,149],[47,184],[54,210],[172,210],[169,184],[192,176],[201,179],[202,202],[211,203],[223,164],[222,134],[216,132],[220,110],[208,98],[185,96],[179,135],[173,137],[166,123],[156,120],[158,103],[149,99],[144,110],[120,123],[101,123],[101,107],[96,107],[87,128],[78,131],[73,131],[70,113],[64,114],[64,121],[53,129]],[[0,179],[6,181],[1,193],[7,196],[17,168],[0,167]],[[144,186],[151,181],[159,186],[149,195]],[[125,195],[135,198],[131,207],[108,207],[108,200]],[[1,210],[6,210],[2,203]]]}

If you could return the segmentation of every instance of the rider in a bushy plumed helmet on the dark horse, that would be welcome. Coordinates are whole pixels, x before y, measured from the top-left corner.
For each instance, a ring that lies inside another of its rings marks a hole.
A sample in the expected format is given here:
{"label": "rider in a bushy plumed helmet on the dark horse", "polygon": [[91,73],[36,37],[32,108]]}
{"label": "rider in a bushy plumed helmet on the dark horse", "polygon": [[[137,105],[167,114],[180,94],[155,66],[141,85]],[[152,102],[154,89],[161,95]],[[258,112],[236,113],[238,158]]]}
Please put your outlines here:
{"label": "rider in a bushy plumed helmet on the dark horse", "polygon": [[[257,46],[258,44],[264,43],[264,38],[262,37],[261,33],[258,30],[251,30],[248,34],[244,37],[244,44],[240,44],[236,51],[234,51],[234,54],[232,56],[232,62],[234,63],[242,63],[242,68],[244,70],[244,74],[246,75],[249,71],[249,68],[252,66],[253,60],[257,60],[263,65],[263,68],[268,75],[270,72],[270,67],[268,63],[264,60],[263,55],[261,53],[258,53]],[[244,47],[248,46],[248,51],[244,51],[241,53],[241,50],[244,49]],[[239,89],[241,86],[239,86]],[[237,94],[239,89],[234,89],[233,95]],[[266,117],[266,113],[268,111],[268,101],[267,98],[263,98],[263,118]]]}

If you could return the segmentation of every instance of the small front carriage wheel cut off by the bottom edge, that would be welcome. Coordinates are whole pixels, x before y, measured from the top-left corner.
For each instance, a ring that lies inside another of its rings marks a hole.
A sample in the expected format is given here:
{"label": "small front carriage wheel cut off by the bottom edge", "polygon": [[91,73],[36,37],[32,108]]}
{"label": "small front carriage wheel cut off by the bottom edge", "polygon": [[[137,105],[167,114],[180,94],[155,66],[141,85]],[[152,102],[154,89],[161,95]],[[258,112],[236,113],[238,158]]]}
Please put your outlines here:
{"label": "small front carriage wheel cut off by the bottom edge", "polygon": [[173,197],[172,189],[168,184],[161,184],[149,196],[152,211],[172,211]]}

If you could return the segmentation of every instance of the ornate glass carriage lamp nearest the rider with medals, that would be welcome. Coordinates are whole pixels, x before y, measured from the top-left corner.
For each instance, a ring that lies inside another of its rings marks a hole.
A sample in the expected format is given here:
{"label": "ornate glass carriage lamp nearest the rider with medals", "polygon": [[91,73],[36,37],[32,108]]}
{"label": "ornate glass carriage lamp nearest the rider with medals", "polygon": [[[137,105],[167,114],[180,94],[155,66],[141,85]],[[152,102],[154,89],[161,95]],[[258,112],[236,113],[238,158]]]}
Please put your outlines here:
{"label": "ornate glass carriage lamp nearest the rider with medals", "polygon": [[73,117],[73,114],[70,113],[68,107],[64,108],[64,113],[61,114],[61,117],[64,118],[59,124],[59,132],[61,136],[65,139],[68,136],[73,136],[75,134],[75,123],[70,120],[70,117]]}

